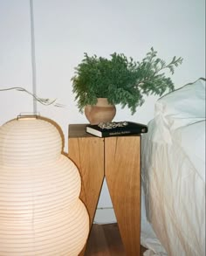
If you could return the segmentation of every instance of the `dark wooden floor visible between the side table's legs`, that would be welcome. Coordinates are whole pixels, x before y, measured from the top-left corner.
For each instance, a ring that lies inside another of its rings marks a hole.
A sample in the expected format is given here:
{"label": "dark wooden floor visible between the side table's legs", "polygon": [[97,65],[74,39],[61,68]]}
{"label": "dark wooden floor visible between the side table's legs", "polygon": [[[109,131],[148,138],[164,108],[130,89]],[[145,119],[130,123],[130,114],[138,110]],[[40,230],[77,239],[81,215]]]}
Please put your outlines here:
{"label": "dark wooden floor visible between the side table's legs", "polygon": [[[145,250],[146,249],[141,246],[140,256],[143,255]],[[93,224],[92,231],[87,242],[85,256],[116,255],[126,256],[120,239],[118,225],[116,223],[106,225]]]}

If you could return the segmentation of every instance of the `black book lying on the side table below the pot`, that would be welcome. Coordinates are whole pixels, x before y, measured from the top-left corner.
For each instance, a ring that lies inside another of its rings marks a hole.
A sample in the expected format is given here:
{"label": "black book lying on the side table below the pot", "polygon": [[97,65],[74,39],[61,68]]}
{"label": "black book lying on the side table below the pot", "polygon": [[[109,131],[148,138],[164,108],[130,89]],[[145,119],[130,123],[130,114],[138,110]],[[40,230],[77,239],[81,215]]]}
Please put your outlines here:
{"label": "black book lying on the side table below the pot", "polygon": [[86,133],[98,137],[140,135],[147,132],[147,125],[132,121],[100,122],[97,125],[86,125]]}

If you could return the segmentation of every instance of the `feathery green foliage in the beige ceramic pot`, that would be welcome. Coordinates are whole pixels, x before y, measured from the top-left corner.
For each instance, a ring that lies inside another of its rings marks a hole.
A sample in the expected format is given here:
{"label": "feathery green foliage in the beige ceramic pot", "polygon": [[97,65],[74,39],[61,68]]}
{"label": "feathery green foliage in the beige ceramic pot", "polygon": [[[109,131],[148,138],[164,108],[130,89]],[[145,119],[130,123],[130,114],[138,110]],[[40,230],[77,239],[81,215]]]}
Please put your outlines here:
{"label": "feathery green foliage in the beige ceramic pot", "polygon": [[107,98],[110,104],[127,106],[134,114],[144,103],[144,95],[161,96],[167,89],[174,90],[173,81],[162,71],[168,69],[173,74],[175,67],[182,64],[182,58],[174,57],[167,65],[156,55],[151,48],[139,62],[123,53],[114,52],[111,59],[89,57],[85,53],[72,77],[72,92],[76,94],[79,111],[86,105],[95,105],[97,98]]}

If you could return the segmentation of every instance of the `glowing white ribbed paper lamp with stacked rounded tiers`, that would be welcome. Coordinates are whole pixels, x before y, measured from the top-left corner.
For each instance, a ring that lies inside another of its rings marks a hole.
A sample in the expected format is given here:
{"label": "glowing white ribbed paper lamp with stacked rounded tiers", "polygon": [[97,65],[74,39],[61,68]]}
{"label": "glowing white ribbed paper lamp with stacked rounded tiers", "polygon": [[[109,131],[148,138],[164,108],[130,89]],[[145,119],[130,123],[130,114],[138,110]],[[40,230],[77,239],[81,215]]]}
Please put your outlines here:
{"label": "glowing white ribbed paper lamp with stacked rounded tiers", "polygon": [[0,128],[0,255],[77,256],[89,218],[77,167],[58,129],[41,119]]}

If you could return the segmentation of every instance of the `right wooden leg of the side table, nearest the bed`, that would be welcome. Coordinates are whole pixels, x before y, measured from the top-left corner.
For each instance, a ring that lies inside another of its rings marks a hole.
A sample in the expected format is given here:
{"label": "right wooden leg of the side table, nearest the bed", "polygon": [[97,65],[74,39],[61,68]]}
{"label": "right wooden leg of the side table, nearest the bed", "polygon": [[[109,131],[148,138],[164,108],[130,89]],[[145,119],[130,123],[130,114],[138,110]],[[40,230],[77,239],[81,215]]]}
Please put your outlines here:
{"label": "right wooden leg of the side table, nearest the bed", "polygon": [[140,255],[140,136],[105,139],[105,175],[120,236],[128,256]]}

